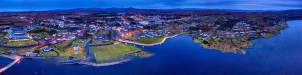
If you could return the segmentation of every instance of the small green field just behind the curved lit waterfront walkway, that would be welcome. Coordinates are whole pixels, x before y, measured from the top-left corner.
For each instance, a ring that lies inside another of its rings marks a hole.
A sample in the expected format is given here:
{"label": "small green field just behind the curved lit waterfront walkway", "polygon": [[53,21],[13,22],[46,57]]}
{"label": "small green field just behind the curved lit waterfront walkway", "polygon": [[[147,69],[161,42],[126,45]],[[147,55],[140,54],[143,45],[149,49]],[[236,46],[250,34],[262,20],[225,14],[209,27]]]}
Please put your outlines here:
{"label": "small green field just behind the curved lit waterfront walkway", "polygon": [[135,42],[142,43],[142,44],[152,44],[152,43],[158,43],[163,41],[164,38],[140,38],[137,39]]}

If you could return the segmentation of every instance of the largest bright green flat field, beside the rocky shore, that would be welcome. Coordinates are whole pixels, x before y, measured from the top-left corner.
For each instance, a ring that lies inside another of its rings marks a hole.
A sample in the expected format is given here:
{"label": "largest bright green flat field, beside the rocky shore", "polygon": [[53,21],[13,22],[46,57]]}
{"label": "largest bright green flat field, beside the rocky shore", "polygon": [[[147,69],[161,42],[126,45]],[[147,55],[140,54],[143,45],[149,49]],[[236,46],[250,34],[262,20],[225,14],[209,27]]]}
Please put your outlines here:
{"label": "largest bright green flat field, beside the rocky shore", "polygon": [[90,53],[95,55],[98,62],[117,60],[125,57],[124,53],[140,50],[135,46],[122,43],[105,46],[90,46],[89,49],[91,49]]}

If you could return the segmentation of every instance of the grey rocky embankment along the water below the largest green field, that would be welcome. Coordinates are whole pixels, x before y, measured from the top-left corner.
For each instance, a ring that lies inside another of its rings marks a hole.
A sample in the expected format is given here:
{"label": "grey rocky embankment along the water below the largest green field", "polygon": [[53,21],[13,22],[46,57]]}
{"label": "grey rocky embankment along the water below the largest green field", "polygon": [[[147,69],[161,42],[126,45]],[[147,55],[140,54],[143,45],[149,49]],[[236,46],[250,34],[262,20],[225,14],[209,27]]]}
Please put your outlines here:
{"label": "grey rocky embankment along the water below the largest green field", "polygon": [[88,62],[88,61],[81,61],[79,64],[86,64],[86,65],[91,65],[91,66],[108,66],[108,65],[114,65],[114,64],[119,64],[122,62],[130,61],[130,59],[124,59],[124,60],[119,60],[119,61],[114,61],[114,62],[106,62],[106,63],[95,63],[95,62]]}

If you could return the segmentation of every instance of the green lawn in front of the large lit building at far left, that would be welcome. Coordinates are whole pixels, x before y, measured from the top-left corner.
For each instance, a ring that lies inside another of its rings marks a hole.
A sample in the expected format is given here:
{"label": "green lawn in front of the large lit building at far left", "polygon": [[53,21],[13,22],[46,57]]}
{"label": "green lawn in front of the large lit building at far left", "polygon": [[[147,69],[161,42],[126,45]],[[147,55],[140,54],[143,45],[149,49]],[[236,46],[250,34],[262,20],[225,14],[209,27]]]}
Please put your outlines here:
{"label": "green lawn in front of the large lit building at far left", "polygon": [[26,40],[26,41],[21,41],[20,43],[18,43],[18,42],[8,42],[5,45],[6,46],[26,46],[26,45],[32,45],[32,44],[37,44],[37,41],[35,41],[35,40]]}

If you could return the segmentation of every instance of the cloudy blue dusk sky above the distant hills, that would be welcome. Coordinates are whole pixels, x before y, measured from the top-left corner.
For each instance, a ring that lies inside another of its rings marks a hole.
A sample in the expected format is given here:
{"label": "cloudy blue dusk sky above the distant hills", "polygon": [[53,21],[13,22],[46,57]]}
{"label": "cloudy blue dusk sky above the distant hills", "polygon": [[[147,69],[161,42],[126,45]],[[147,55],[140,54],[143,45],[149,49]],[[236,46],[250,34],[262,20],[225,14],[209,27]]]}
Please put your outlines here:
{"label": "cloudy blue dusk sky above the distant hills", "polygon": [[302,9],[302,0],[0,0],[0,11],[134,7],[149,9],[208,8],[243,10]]}

